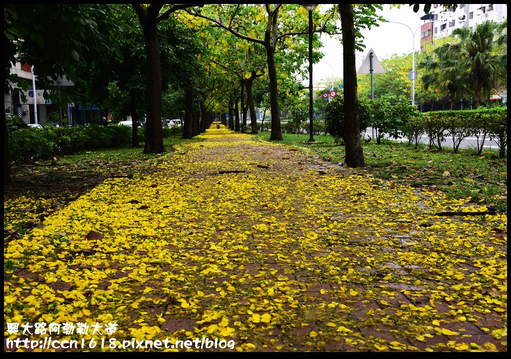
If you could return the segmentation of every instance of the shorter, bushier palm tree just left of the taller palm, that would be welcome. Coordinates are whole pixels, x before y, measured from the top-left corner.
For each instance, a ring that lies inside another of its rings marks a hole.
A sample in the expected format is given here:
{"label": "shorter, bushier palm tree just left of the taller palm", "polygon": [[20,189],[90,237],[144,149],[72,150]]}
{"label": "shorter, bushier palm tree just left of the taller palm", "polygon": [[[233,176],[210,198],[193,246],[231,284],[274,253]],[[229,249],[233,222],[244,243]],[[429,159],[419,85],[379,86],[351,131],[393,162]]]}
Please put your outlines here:
{"label": "shorter, bushier palm tree just left of the taller palm", "polygon": [[459,44],[446,43],[433,50],[434,57],[428,56],[418,65],[419,69],[426,69],[426,74],[421,77],[424,89],[427,91],[430,86],[435,86],[448,93],[451,110],[454,110],[456,97],[461,94],[467,80],[466,71],[460,67],[461,53]]}

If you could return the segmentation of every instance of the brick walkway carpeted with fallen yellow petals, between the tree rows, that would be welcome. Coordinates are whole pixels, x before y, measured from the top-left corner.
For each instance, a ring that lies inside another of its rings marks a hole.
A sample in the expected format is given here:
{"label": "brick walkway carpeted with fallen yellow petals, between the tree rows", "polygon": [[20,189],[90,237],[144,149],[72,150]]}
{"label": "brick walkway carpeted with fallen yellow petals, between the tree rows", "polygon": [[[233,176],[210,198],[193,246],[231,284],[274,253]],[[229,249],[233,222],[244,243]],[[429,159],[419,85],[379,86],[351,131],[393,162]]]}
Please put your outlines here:
{"label": "brick walkway carpeted with fallen yellow petals, between the tree rows", "polygon": [[72,351],[507,351],[504,214],[437,217],[460,203],[221,127],[11,241],[5,322],[88,324],[52,335]]}

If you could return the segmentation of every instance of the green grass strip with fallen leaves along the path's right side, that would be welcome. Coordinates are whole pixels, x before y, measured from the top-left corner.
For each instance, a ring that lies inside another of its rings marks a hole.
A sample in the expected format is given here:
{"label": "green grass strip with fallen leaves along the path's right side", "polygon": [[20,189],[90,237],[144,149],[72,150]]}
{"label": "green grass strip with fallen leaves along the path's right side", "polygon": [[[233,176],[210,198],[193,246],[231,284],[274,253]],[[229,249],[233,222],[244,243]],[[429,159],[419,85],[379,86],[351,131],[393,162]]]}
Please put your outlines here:
{"label": "green grass strip with fallen leaves along the path's right side", "polygon": [[[313,150],[324,160],[344,161],[344,146],[335,145],[331,136],[314,136],[316,143],[304,143],[309,135],[283,133],[282,141]],[[270,133],[257,135],[269,140]],[[384,140],[362,142],[365,167],[362,169],[376,178],[392,180],[424,190],[438,190],[450,198],[471,198],[473,203],[493,206],[507,211],[507,157],[499,158],[496,150],[485,149],[478,156],[472,149],[452,148],[430,150],[427,145],[408,146],[407,143]]]}

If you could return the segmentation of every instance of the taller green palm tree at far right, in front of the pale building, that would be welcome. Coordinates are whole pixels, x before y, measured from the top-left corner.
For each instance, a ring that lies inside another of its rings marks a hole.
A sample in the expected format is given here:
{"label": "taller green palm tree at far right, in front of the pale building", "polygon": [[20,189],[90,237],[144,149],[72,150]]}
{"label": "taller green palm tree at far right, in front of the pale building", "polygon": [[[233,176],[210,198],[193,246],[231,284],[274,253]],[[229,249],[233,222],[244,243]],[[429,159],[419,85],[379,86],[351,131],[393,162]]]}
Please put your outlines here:
{"label": "taller green palm tree at far right, in front of the pale building", "polygon": [[495,87],[507,79],[507,20],[501,23],[485,21],[475,31],[467,28],[453,30],[458,35],[461,53],[460,66],[470,74],[476,104],[489,97]]}

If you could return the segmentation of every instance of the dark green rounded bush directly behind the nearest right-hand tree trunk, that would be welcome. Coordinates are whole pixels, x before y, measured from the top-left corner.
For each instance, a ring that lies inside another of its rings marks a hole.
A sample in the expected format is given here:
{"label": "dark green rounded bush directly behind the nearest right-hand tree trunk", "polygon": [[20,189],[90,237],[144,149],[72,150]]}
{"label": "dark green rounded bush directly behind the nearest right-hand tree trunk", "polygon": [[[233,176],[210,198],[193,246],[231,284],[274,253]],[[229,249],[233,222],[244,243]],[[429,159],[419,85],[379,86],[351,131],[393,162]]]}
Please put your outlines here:
{"label": "dark green rounded bush directly behind the nearest right-hand tree trunk", "polygon": [[[358,102],[360,134],[364,133],[369,125],[370,112],[367,101],[359,99]],[[330,102],[324,110],[325,130],[335,138],[336,143],[344,142],[344,97],[339,96]]]}

